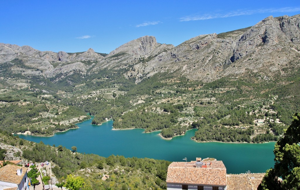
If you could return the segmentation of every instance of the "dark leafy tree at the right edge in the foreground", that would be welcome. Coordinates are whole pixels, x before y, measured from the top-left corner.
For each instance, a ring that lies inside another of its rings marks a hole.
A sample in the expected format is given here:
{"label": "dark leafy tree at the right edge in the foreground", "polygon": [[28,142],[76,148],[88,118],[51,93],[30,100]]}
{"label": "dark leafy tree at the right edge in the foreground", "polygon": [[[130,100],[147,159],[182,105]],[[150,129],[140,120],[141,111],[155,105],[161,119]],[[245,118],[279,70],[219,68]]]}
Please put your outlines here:
{"label": "dark leafy tree at the right edge in the foreground", "polygon": [[[295,113],[292,124],[274,148],[275,165],[267,171],[260,189],[300,188],[300,113]],[[282,182],[278,178],[283,179]]]}

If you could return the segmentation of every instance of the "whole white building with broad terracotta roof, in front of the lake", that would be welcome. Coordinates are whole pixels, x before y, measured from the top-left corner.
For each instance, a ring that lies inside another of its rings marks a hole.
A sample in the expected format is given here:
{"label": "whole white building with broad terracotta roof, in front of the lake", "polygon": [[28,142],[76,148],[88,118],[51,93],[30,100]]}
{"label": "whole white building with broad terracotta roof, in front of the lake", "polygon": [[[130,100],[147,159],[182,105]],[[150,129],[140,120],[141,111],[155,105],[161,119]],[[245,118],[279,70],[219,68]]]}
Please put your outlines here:
{"label": "whole white building with broad terracotta roof, in front of the lake", "polygon": [[167,190],[227,190],[222,161],[172,162],[168,167]]}

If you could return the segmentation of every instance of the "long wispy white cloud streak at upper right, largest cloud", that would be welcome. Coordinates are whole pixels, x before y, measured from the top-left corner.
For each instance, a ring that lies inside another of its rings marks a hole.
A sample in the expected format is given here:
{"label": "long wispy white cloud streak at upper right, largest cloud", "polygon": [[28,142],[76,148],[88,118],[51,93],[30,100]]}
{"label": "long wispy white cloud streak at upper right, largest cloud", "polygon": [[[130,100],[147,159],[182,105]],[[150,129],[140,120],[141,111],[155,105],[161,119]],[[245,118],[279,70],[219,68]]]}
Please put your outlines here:
{"label": "long wispy white cloud streak at upper right, largest cloud", "polygon": [[179,21],[191,21],[191,20],[208,20],[216,18],[235,17],[241,15],[252,15],[259,13],[279,13],[279,12],[297,12],[300,11],[300,7],[285,7],[285,8],[270,8],[270,9],[257,9],[257,10],[237,10],[234,12],[223,14],[203,14],[203,15],[190,15],[182,17]]}

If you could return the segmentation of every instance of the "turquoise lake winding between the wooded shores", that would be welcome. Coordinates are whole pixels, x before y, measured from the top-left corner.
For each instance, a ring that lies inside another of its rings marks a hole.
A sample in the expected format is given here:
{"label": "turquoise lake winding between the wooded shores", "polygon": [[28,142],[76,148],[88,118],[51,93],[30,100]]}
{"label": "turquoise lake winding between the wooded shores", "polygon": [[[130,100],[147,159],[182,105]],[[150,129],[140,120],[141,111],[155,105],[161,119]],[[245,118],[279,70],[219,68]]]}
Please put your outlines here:
{"label": "turquoise lake winding between the wooded shores", "polygon": [[55,133],[51,137],[19,135],[20,138],[68,149],[76,146],[78,152],[108,157],[154,158],[169,161],[196,160],[196,157],[223,161],[227,173],[262,173],[274,166],[274,142],[270,143],[199,143],[191,140],[196,129],[172,140],[162,139],[159,131],[143,133],[144,129],[112,130],[113,121],[92,125],[92,119],[78,123],[79,128]]}

